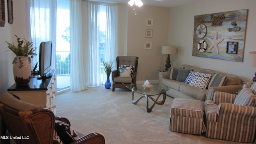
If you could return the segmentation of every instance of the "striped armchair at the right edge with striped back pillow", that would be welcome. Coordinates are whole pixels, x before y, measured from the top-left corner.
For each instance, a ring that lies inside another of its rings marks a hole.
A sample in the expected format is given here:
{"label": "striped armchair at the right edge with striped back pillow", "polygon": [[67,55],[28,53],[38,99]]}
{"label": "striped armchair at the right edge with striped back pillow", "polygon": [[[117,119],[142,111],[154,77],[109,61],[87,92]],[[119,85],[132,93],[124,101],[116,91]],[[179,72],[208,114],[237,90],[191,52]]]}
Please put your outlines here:
{"label": "striped armchair at the right edge with striped back pillow", "polygon": [[[256,88],[256,83],[255,83]],[[215,92],[204,103],[206,137],[234,142],[254,142],[256,134],[256,95],[243,88],[238,95]]]}

